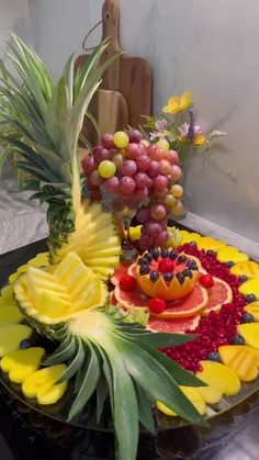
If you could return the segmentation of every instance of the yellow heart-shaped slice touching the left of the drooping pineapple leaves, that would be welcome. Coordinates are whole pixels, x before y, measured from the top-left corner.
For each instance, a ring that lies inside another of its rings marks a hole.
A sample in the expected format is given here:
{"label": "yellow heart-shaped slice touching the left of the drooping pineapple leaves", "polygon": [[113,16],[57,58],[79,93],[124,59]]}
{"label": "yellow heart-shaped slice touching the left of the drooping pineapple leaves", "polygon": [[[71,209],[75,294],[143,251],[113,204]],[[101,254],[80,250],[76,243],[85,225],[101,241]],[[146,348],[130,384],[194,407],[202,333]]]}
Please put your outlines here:
{"label": "yellow heart-shaped slice touching the left of the drooping pineapple leaves", "polygon": [[66,364],[56,364],[32,373],[22,384],[24,395],[26,397],[36,397],[38,404],[55,404],[60,400],[68,386],[68,382],[55,384],[66,369]]}

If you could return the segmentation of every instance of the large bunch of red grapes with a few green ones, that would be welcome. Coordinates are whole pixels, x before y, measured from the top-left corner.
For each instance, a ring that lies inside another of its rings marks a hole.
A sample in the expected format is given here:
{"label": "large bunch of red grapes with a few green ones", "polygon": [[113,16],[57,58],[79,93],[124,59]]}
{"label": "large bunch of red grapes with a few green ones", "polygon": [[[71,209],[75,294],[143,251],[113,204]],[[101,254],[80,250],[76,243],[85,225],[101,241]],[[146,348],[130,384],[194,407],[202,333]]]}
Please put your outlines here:
{"label": "large bunch of red grapes with a few green ones", "polygon": [[160,139],[149,144],[138,130],[105,134],[82,160],[92,199],[103,199],[126,227],[136,215],[143,224],[137,247],[164,246],[169,239],[170,215],[183,213],[183,189],[177,152]]}

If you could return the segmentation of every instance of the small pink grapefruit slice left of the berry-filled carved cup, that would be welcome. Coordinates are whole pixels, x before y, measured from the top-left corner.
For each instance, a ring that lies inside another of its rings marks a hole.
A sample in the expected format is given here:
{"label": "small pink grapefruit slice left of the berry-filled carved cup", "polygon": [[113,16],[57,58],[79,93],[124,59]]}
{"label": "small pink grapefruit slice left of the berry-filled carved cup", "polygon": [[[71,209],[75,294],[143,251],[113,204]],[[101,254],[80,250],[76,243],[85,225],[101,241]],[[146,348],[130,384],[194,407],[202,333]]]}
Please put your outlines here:
{"label": "small pink grapefruit slice left of the berry-filled carved cup", "polygon": [[148,310],[149,298],[144,294],[139,288],[134,289],[134,291],[126,292],[123,291],[120,285],[116,285],[114,289],[114,298],[116,299],[117,304],[122,305],[125,310]]}

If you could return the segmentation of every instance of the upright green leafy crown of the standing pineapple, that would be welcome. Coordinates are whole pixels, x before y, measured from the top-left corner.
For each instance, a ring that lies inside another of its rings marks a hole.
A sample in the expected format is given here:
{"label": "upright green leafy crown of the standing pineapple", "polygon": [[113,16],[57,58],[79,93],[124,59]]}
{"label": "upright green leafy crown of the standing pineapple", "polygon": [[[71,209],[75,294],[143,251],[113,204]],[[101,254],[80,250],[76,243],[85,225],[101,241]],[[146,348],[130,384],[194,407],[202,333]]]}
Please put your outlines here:
{"label": "upright green leafy crown of the standing pineapple", "polygon": [[77,155],[88,105],[103,71],[116,56],[99,64],[109,45],[104,41],[75,72],[75,57],[71,55],[61,77],[54,83],[42,59],[18,36],[12,35],[12,38],[7,57],[19,79],[1,60],[0,138],[12,147],[13,154],[19,152],[22,156],[23,160],[16,161],[19,169],[36,180],[60,184],[56,188],[63,192],[64,183],[71,188],[71,161]]}

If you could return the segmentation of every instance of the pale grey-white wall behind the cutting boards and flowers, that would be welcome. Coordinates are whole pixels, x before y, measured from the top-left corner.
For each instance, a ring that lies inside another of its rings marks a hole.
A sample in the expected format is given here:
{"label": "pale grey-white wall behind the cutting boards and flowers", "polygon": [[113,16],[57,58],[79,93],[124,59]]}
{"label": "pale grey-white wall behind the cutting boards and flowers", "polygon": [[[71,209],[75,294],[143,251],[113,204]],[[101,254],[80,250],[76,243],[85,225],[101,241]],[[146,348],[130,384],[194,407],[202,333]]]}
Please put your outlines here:
{"label": "pale grey-white wall behind the cutting boards and flowers", "polygon": [[[2,1],[2,0],[1,0]],[[8,5],[12,3],[5,0]],[[193,92],[199,122],[227,137],[203,172],[188,179],[190,209],[258,240],[259,2],[257,0],[121,0],[121,44],[146,57],[155,77],[155,111]],[[29,0],[36,51],[54,75],[101,14],[102,0]],[[2,22],[2,19],[1,19]],[[93,34],[89,45],[98,42]]]}

